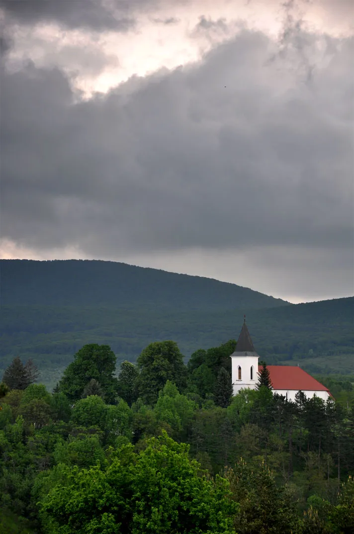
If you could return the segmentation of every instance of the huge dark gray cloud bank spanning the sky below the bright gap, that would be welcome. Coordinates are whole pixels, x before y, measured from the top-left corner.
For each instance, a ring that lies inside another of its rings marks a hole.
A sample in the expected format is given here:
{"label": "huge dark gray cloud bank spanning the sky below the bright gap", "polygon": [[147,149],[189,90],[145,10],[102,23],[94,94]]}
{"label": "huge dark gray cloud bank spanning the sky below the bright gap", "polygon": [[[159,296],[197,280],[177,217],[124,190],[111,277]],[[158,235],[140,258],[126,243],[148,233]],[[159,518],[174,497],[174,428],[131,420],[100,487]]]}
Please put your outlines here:
{"label": "huge dark gray cloud bank spanning the sky below the bright gap", "polygon": [[96,257],[352,250],[353,44],[331,40],[309,82],[244,31],[76,104],[58,69],[3,71],[2,237]]}

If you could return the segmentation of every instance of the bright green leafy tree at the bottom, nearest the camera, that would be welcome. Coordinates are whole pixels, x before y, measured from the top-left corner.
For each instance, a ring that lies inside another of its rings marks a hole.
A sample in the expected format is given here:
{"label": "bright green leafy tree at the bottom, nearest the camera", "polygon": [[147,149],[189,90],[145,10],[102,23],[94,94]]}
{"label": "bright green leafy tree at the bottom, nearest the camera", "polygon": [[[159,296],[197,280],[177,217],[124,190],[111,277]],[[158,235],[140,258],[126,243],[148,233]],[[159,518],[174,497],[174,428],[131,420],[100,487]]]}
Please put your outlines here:
{"label": "bright green leafy tree at the bottom, nearest the camera", "polygon": [[237,506],[228,482],[210,480],[164,433],[103,468],[59,465],[43,477],[40,509],[48,534],[233,534]]}

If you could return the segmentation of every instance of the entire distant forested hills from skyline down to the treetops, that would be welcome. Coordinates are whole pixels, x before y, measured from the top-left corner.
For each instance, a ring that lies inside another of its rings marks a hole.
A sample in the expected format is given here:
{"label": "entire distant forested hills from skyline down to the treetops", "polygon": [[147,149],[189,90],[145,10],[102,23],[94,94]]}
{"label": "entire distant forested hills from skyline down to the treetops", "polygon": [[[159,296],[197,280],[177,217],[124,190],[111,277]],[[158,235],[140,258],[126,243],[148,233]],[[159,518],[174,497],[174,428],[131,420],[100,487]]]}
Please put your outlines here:
{"label": "entire distant forested hills from skyline down to the treetops", "polygon": [[353,297],[295,305],[208,278],[95,261],[3,260],[1,290],[0,376],[15,355],[32,357],[52,386],[85,343],[109,344],[118,362],[134,362],[148,343],[173,339],[188,358],[237,339],[244,313],[269,364],[354,371]]}

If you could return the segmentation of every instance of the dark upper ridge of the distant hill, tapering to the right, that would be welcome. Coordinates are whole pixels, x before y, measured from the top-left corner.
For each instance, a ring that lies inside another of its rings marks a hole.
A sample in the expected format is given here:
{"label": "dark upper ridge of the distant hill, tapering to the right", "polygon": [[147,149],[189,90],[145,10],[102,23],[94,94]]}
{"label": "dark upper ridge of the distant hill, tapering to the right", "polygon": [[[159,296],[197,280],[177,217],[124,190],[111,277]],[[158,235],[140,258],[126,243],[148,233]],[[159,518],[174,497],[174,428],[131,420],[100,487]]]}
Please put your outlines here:
{"label": "dark upper ridge of the distant hill, tapering to the right", "polygon": [[229,310],[288,304],[211,278],[90,260],[1,260],[2,305]]}

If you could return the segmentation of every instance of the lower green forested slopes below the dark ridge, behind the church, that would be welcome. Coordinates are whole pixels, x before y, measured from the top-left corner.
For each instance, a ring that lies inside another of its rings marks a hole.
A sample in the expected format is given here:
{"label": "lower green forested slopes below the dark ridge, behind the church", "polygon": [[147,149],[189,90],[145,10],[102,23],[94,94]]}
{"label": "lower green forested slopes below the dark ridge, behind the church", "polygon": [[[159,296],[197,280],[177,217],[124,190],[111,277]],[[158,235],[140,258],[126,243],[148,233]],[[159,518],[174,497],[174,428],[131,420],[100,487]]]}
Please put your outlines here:
{"label": "lower green forested slopes below the dark ridge, behind the church", "polygon": [[149,308],[3,306],[0,373],[14,356],[33,358],[52,387],[85,343],[109,344],[136,361],[152,341],[178,342],[186,359],[199,348],[237,339],[246,311],[252,339],[271,363],[301,363],[312,373],[353,373],[354,299],[268,310],[154,311]]}

